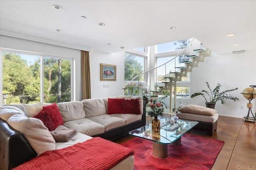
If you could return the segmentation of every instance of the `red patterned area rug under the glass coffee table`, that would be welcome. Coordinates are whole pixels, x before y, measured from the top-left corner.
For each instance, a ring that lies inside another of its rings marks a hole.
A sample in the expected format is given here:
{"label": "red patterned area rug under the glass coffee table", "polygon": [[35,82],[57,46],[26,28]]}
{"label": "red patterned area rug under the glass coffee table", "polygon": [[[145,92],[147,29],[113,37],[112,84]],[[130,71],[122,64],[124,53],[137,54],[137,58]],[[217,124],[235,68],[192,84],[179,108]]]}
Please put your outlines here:
{"label": "red patterned area rug under the glass coffee table", "polygon": [[122,146],[134,151],[134,170],[210,170],[224,141],[193,134],[184,134],[181,146],[168,145],[168,157],[152,154],[152,141],[133,138]]}

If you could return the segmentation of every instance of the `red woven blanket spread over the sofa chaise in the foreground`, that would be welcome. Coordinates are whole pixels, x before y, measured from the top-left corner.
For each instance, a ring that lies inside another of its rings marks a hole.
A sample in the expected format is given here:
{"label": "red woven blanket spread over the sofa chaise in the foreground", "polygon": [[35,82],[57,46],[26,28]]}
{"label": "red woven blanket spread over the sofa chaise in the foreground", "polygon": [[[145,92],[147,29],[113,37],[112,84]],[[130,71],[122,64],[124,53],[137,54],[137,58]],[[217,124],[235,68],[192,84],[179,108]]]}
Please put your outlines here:
{"label": "red woven blanket spread over the sofa chaise in the foreground", "polygon": [[95,137],[70,147],[42,153],[14,170],[108,170],[134,152]]}

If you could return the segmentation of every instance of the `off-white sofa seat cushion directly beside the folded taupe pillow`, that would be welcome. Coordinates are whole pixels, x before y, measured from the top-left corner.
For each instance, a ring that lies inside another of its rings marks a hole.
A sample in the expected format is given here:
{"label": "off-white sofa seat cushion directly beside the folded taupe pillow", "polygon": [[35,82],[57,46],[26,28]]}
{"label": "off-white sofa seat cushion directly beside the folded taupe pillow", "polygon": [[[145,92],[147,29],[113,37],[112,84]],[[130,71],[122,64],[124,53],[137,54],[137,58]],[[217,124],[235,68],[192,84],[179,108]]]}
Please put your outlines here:
{"label": "off-white sofa seat cushion directly beside the folded taupe pillow", "polygon": [[65,122],[63,125],[68,128],[76,128],[77,132],[86,134],[88,136],[102,134],[105,131],[105,127],[103,125],[93,122],[88,118],[68,121]]}

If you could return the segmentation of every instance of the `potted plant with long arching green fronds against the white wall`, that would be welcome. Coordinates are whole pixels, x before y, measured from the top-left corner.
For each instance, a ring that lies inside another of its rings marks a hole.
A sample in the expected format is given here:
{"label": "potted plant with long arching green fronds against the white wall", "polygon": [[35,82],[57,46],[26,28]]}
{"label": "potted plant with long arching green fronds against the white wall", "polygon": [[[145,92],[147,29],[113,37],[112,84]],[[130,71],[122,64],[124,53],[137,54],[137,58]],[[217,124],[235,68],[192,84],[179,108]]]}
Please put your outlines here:
{"label": "potted plant with long arching green fronds against the white wall", "polygon": [[[239,99],[236,98],[235,96],[226,94],[229,91],[238,90],[237,87],[235,89],[220,91],[220,87],[221,87],[220,83],[218,83],[213,90],[210,88],[210,85],[208,82],[206,82],[206,86],[208,87],[208,89],[210,91],[202,90],[202,92],[200,92],[200,93],[194,93],[193,95],[191,95],[191,98],[202,95],[204,97],[204,99],[206,100],[206,103],[205,103],[206,107],[209,107],[212,109],[214,109],[216,102],[219,100],[221,101],[222,104],[224,104],[224,101],[223,101],[224,99],[239,101]],[[209,97],[209,100],[206,99],[206,96]]]}

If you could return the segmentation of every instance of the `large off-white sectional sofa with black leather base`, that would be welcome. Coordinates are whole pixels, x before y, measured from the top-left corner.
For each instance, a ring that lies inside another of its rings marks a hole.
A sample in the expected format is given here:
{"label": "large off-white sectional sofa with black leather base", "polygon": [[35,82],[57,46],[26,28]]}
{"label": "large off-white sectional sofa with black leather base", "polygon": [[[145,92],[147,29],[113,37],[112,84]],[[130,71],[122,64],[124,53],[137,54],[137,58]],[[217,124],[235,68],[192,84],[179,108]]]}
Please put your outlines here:
{"label": "large off-white sectional sofa with black leather base", "polygon": [[[56,130],[76,129],[77,132],[67,142],[55,142],[49,127],[46,128],[43,121],[31,118],[32,113],[41,113],[42,107],[52,105],[36,103],[0,107],[0,170],[12,169],[45,151],[66,148],[93,137],[114,140],[146,124],[146,103],[142,97],[117,96],[58,103],[63,124]],[[27,132],[28,129],[32,132]],[[133,163],[134,157],[128,156],[112,169],[124,166],[132,169]]]}

